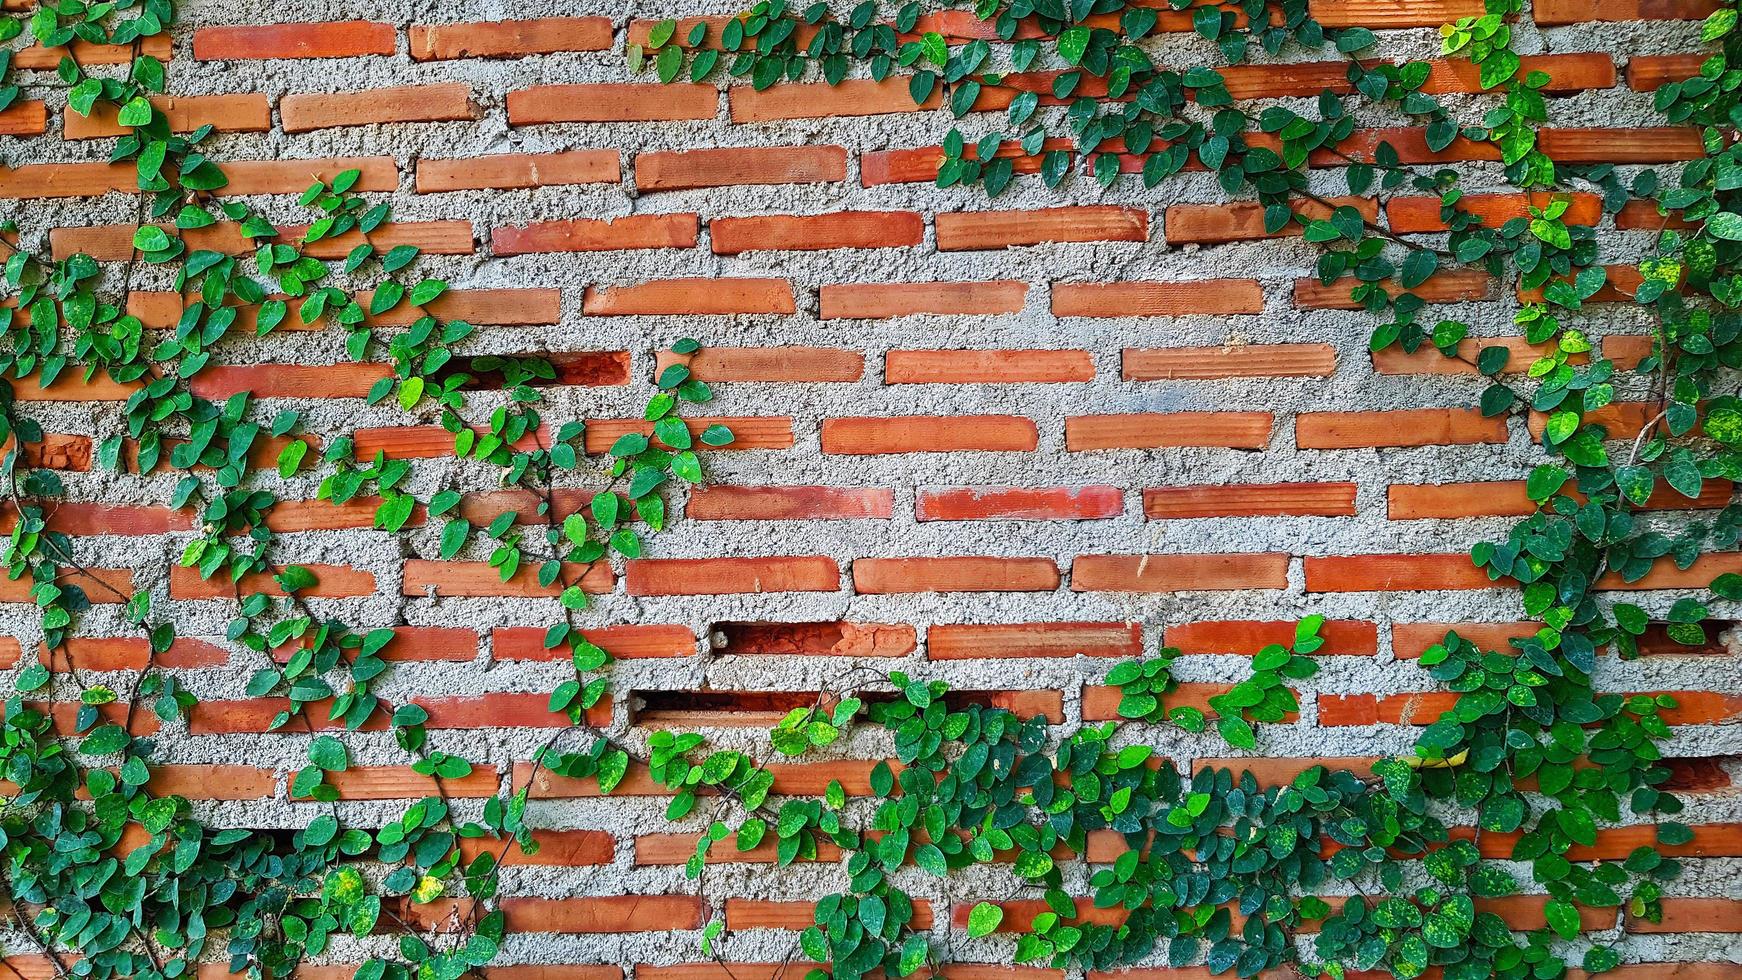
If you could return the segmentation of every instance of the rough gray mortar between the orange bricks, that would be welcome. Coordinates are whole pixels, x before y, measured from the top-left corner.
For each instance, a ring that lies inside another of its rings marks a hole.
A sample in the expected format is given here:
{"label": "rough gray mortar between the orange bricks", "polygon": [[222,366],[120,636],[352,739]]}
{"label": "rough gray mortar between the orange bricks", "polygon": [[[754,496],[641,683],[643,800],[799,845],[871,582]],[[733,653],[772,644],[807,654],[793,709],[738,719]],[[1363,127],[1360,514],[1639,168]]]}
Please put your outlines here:
{"label": "rough gray mortar between the orange bricks", "polygon": [[[1294,449],[1291,423],[1296,411],[1402,409],[1421,406],[1469,406],[1482,381],[1474,378],[1374,376],[1367,366],[1366,338],[1371,327],[1362,313],[1334,310],[1294,310],[1287,284],[1312,273],[1315,249],[1301,242],[1246,242],[1216,247],[1167,245],[1162,209],[1169,204],[1223,200],[1207,174],[1186,174],[1162,188],[1143,190],[1122,181],[1111,190],[1097,190],[1089,181],[1047,190],[1033,178],[1017,179],[996,202],[979,190],[939,190],[928,185],[892,185],[862,188],[857,153],[866,150],[935,144],[948,129],[942,113],[902,113],[847,120],[791,120],[735,125],[721,97],[719,115],[704,122],[678,124],[557,124],[510,129],[505,122],[505,92],[537,84],[622,82],[632,78],[624,66],[624,35],[632,17],[690,16],[735,12],[735,0],[697,0],[683,5],[634,7],[629,3],[557,3],[526,0],[517,3],[467,0],[463,3],[378,2],[347,3],[287,0],[270,10],[275,21],[376,19],[401,26],[399,54],[341,61],[268,61],[268,63],[193,63],[190,59],[192,26],[223,23],[258,23],[268,14],[247,5],[192,0],[179,5],[176,33],[178,61],[171,64],[172,94],[265,92],[273,108],[287,92],[359,91],[385,85],[429,82],[467,82],[479,106],[477,122],[371,125],[327,129],[308,134],[233,134],[213,141],[213,157],[225,158],[326,158],[340,155],[390,155],[399,162],[399,193],[394,197],[401,219],[469,218],[479,238],[474,256],[429,256],[418,266],[427,275],[444,277],[456,287],[486,285],[556,285],[563,289],[563,322],[550,327],[484,327],[467,343],[467,352],[528,350],[629,350],[634,357],[634,383],[625,388],[552,388],[547,390],[544,414],[549,420],[620,418],[634,414],[646,397],[653,374],[655,350],[679,336],[697,336],[707,345],[817,345],[866,352],[866,376],[857,383],[827,385],[716,385],[718,399],[709,414],[791,414],[798,444],[782,453],[719,453],[711,456],[711,479],[751,484],[834,484],[894,487],[895,507],[890,520],[814,522],[803,538],[793,538],[794,526],[770,522],[686,522],[660,534],[652,545],[655,557],[712,557],[768,554],[826,554],[843,573],[843,588],[831,594],[723,595],[723,597],[629,597],[618,585],[613,595],[598,597],[596,623],[679,623],[699,637],[697,653],[683,660],[624,661],[613,668],[618,707],[615,726],[625,738],[645,736],[627,729],[627,710],[634,689],[819,689],[834,688],[855,668],[908,668],[949,681],[958,688],[1057,688],[1064,693],[1064,729],[1082,714],[1080,686],[1096,682],[1106,663],[1094,658],[1071,660],[1000,660],[939,661],[923,654],[895,660],[801,658],[801,656],[732,656],[709,648],[711,623],[732,620],[857,620],[913,623],[922,634],[934,623],[1042,621],[1042,620],[1127,620],[1141,621],[1150,641],[1165,623],[1254,618],[1291,620],[1306,613],[1329,618],[1364,618],[1380,623],[1378,656],[1326,656],[1322,670],[1303,684],[1301,722],[1266,726],[1261,733],[1268,755],[1373,755],[1406,750],[1413,731],[1397,726],[1315,729],[1317,701],[1310,693],[1394,693],[1421,689],[1427,679],[1415,668],[1392,661],[1390,620],[1432,621],[1502,621],[1519,616],[1517,597],[1509,590],[1446,594],[1348,594],[1308,595],[1303,592],[1300,555],[1338,555],[1362,552],[1444,552],[1502,536],[1510,520],[1406,520],[1385,519],[1385,486],[1392,482],[1453,482],[1479,479],[1517,479],[1529,472],[1538,454],[1529,435],[1514,423],[1505,446],[1421,447],[1381,451],[1300,451]],[[604,14],[617,23],[617,45],[610,52],[552,54],[519,61],[436,61],[413,63],[404,52],[404,24],[432,21],[483,21],[502,17],[538,17]],[[1582,52],[1610,50],[1632,54],[1693,50],[1697,24],[1585,24],[1538,31],[1528,23],[1519,28],[1521,50]],[[1381,31],[1381,50],[1394,57],[1437,54],[1432,30]],[[1150,45],[1160,63],[1204,61],[1209,45],[1193,37],[1165,37]],[[1280,61],[1320,56],[1289,54]],[[1617,54],[1618,68],[1625,68]],[[49,80],[42,73],[40,80]],[[56,117],[64,111],[57,91],[42,94]],[[1289,99],[1291,108],[1312,111],[1312,99]],[[1451,99],[1465,118],[1479,115],[1481,101]],[[1362,125],[1395,125],[1399,117],[1361,110]],[[1585,92],[1550,99],[1554,125],[1651,125],[1658,120],[1651,97],[1625,89]],[[977,136],[998,125],[996,115],[976,115],[960,122]],[[51,131],[56,131],[51,125]],[[702,146],[794,146],[829,143],[850,151],[848,178],[829,185],[780,185],[709,188],[638,195],[632,157],[638,151],[688,150]],[[26,162],[99,160],[110,141],[61,143],[57,139],[12,141],[9,165]],[[538,188],[521,191],[458,191],[439,195],[413,193],[415,160],[422,157],[470,157],[507,151],[552,151],[568,148],[617,148],[624,162],[624,183],[575,188]],[[1500,190],[1496,167],[1463,167],[1470,190]],[[1624,169],[1625,176],[1636,167]],[[1313,190],[1343,193],[1341,176],[1317,171]],[[385,197],[385,195],[371,195]],[[1009,251],[939,252],[934,233],[918,247],[862,252],[751,252],[714,256],[704,240],[688,251],[627,251],[596,254],[512,256],[488,254],[490,230],[556,218],[601,218],[620,214],[700,212],[706,219],[733,214],[814,214],[847,209],[911,209],[920,212],[1057,207],[1066,204],[1117,202],[1151,212],[1151,238],[1144,244],[1050,244]],[[267,214],[296,221],[301,214],[291,197],[251,198]],[[131,221],[131,198],[3,202],[0,218],[16,219],[28,242],[45,237],[49,228]],[[1606,235],[1613,245],[1611,261],[1643,254],[1650,235]],[[592,284],[634,284],[669,277],[784,277],[798,296],[793,317],[611,317],[582,319],[580,296]],[[1190,280],[1214,277],[1258,279],[1266,291],[1266,308],[1242,317],[1131,317],[1120,320],[1056,319],[1049,310],[1047,282],[1092,280]],[[110,272],[111,284],[118,282]],[[918,282],[918,280],[996,280],[1031,282],[1021,313],[976,317],[904,317],[894,320],[819,320],[817,289],[834,282]],[[139,270],[136,287],[164,287],[159,270]],[[1496,336],[1512,332],[1509,303],[1456,305],[1441,310],[1446,317],[1465,319],[1472,332]],[[1599,308],[1592,313],[1594,336],[1636,334],[1646,322],[1625,308]],[[578,331],[575,327],[580,327]],[[1239,379],[1239,381],[1148,381],[1118,379],[1120,348],[1185,346],[1240,343],[1327,343],[1338,352],[1338,369],[1331,378]],[[881,386],[883,353],[890,348],[932,346],[1043,346],[1085,348],[1096,360],[1096,379],[1075,385],[922,385]],[[343,360],[343,343],[336,331],[319,334],[275,334],[268,343],[226,341],[232,362],[331,364]],[[1625,395],[1622,395],[1625,397]],[[495,404],[493,395],[477,393],[481,409]],[[397,409],[371,409],[361,400],[279,399],[270,409],[293,407],[303,413],[307,428],[336,433],[355,426],[399,425]],[[1219,411],[1261,409],[1277,414],[1275,432],[1263,453],[1228,449],[1167,449],[1064,453],[1064,418],[1085,413],[1139,411]],[[49,432],[111,432],[118,406],[113,404],[37,404],[31,414]],[[1040,428],[1038,453],[956,453],[841,458],[822,456],[817,430],[820,420],[855,414],[1023,414]],[[479,411],[483,414],[483,411]],[[491,470],[477,463],[429,460],[416,463],[413,487],[423,494],[446,480],[455,468],[465,472],[465,486],[488,487]],[[68,496],[111,503],[160,503],[172,489],[172,477],[113,477],[101,472],[63,473]],[[1141,508],[1141,487],[1219,482],[1354,480],[1359,484],[1359,515],[1347,519],[1204,519],[1148,522]],[[315,479],[298,477],[282,487],[286,498],[312,498]],[[599,486],[584,473],[573,486]],[[915,493],[941,486],[1080,486],[1113,484],[1127,491],[1124,513],[1110,520],[1089,522],[939,522],[922,524],[913,517]],[[392,623],[455,625],[463,623],[483,634],[479,658],[467,663],[397,665],[381,688],[387,698],[472,695],[479,691],[549,691],[568,668],[561,663],[496,663],[490,628],[498,625],[544,625],[556,616],[547,599],[429,599],[399,597],[399,562],[408,547],[415,554],[434,554],[437,529],[425,527],[395,538],[373,531],[300,533],[282,538],[286,560],[338,562],[376,576],[378,594],[366,599],[317,601],[322,613],[345,618],[357,627]],[[106,567],[131,567],[139,583],[162,599],[167,567],[188,534],[164,540],[89,538],[78,541],[78,557]],[[1198,554],[1198,552],[1289,552],[1289,588],[1277,592],[1214,594],[1186,592],[1167,595],[1077,594],[1066,587],[1052,594],[977,595],[854,595],[850,562],[880,555],[1040,555],[1070,571],[1070,559],[1082,554]],[[467,559],[483,559],[477,547]],[[620,569],[618,569],[620,571]],[[1641,594],[1631,597],[1651,611],[1665,611],[1678,594]],[[230,618],[230,604],[167,602],[183,635],[221,635]],[[1742,616],[1742,606],[1718,607],[1714,614]],[[19,637],[30,649],[40,641],[35,616],[24,606],[0,606],[0,628]],[[92,609],[82,621],[85,635],[127,635],[127,625],[115,607]],[[1737,670],[1737,639],[1728,637],[1732,656],[1655,658],[1618,663],[1604,658],[1599,682],[1611,689],[1695,688],[1742,693]],[[923,649],[923,648],[922,648]],[[185,684],[200,698],[235,698],[247,675],[263,661],[235,651],[233,667],[223,670],[183,672]],[[1178,674],[1186,681],[1230,681],[1246,670],[1244,656],[1190,656]],[[7,679],[9,681],[9,679]],[[125,677],[115,677],[124,682]],[[63,693],[70,693],[63,691]],[[432,731],[430,747],[465,752],[477,762],[507,768],[526,759],[547,733],[507,731]],[[756,729],[716,729],[718,745],[760,748]],[[1157,745],[1185,762],[1205,755],[1230,755],[1211,736],[1190,736],[1171,728],[1127,726],[1120,742]],[[160,740],[162,755],[178,762],[233,762],[279,768],[289,773],[307,752],[307,736],[200,736],[188,738],[179,724],[169,726]],[[399,764],[390,735],[348,736],[361,764]],[[1674,755],[1742,757],[1742,726],[1697,726],[1678,731],[1667,747]],[[861,731],[820,757],[887,755],[887,738]],[[1742,766],[1730,762],[1733,775]],[[280,792],[286,776],[280,775]],[[456,801],[456,809],[476,815],[481,801]],[[510,869],[505,893],[510,895],[615,895],[697,891],[683,879],[681,869],[636,867],[629,841],[636,834],[706,827],[709,806],[672,827],[662,818],[662,797],[557,799],[530,806],[530,822],[552,829],[601,829],[618,839],[617,856],[603,870],[596,869]],[[338,813],[347,822],[378,825],[401,808],[392,801],[343,802]],[[854,801],[864,815],[869,801]],[[280,802],[202,802],[204,818],[254,827],[298,827],[317,809],[312,804]],[[1705,795],[1690,801],[1690,823],[1742,820],[1742,795]],[[1672,884],[1676,895],[1742,896],[1742,862],[1730,858],[1688,860],[1688,874]],[[838,889],[843,883],[836,867],[794,867],[775,874],[766,865],[712,865],[702,891],[716,905],[725,896],[808,900]],[[969,961],[1007,959],[1012,943],[1005,938],[967,942],[948,930],[944,909],[951,898],[977,900],[1016,895],[1003,869],[969,869],[948,884],[904,872],[906,884],[920,896],[934,900],[939,928],[935,942],[953,945],[953,954]],[[1087,884],[1085,870],[1073,869],[1068,881]],[[16,936],[0,936],[16,940]],[[794,936],[780,931],[744,931],[723,940],[723,956],[737,961],[777,961],[793,952]],[[505,945],[505,961],[521,963],[678,963],[695,959],[697,935],[688,931],[639,933],[625,936],[516,935]],[[380,949],[378,943],[375,943]],[[371,942],[334,942],[327,959],[355,961]],[[1742,963],[1742,947],[1732,936],[1671,935],[1636,936],[1629,956],[1643,961],[1730,959]]]}

